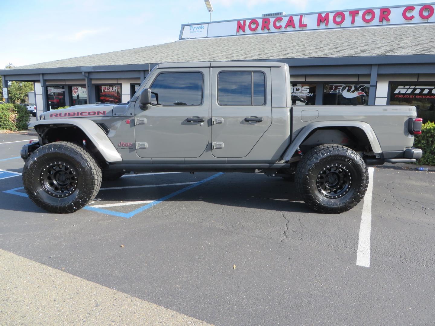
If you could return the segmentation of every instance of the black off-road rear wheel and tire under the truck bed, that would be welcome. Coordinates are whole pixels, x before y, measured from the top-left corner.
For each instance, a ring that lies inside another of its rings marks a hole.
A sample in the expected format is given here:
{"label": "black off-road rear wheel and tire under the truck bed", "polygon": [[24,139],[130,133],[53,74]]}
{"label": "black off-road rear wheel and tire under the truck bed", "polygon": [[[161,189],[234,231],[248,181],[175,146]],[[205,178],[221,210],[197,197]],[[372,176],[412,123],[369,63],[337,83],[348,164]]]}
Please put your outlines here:
{"label": "black off-road rear wheel and tire under the truck bed", "polygon": [[335,144],[317,146],[306,153],[295,175],[302,199],[321,213],[352,209],[364,198],[368,186],[368,170],[361,156]]}

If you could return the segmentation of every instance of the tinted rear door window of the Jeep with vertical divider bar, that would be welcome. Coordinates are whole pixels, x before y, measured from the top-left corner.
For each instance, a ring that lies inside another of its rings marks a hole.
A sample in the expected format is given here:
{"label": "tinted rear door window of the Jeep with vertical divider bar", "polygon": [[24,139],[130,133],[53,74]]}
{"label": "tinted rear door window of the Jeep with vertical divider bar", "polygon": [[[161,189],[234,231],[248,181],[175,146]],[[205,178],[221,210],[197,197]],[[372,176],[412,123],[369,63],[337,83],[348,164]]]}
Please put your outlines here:
{"label": "tinted rear door window of the Jeep with vertical divider bar", "polygon": [[263,105],[265,93],[264,73],[224,71],[218,75],[219,105]]}

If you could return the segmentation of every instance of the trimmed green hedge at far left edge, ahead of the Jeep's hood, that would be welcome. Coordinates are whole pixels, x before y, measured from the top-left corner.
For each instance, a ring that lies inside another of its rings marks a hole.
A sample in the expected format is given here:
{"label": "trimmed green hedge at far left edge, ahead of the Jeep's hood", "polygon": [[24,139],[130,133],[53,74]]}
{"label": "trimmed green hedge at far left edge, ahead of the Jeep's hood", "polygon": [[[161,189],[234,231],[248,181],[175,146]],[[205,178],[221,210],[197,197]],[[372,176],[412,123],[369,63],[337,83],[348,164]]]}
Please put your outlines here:
{"label": "trimmed green hedge at far left edge, ahead of the Jeep's hood", "polygon": [[26,130],[30,121],[30,113],[25,105],[5,103],[0,104],[1,130]]}

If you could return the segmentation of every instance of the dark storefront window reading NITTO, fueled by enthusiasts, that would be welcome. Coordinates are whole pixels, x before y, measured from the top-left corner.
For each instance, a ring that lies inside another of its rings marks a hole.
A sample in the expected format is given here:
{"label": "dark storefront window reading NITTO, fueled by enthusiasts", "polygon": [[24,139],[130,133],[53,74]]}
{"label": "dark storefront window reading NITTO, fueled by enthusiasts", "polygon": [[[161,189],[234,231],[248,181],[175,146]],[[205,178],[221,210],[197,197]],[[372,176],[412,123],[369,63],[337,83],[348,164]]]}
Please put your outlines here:
{"label": "dark storefront window reading NITTO, fueled by enthusiasts", "polygon": [[413,105],[423,122],[435,121],[435,82],[391,84],[391,105]]}

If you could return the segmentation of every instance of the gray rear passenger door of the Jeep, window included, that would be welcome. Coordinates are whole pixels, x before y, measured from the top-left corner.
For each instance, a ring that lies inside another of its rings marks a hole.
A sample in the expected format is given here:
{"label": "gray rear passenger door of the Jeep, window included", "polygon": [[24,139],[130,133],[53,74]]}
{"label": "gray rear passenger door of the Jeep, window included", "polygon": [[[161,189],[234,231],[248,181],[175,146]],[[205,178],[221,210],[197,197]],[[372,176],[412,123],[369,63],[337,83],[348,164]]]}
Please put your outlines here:
{"label": "gray rear passenger door of the Jeep, window included", "polygon": [[247,156],[272,122],[271,69],[214,67],[211,75],[213,156]]}

